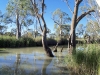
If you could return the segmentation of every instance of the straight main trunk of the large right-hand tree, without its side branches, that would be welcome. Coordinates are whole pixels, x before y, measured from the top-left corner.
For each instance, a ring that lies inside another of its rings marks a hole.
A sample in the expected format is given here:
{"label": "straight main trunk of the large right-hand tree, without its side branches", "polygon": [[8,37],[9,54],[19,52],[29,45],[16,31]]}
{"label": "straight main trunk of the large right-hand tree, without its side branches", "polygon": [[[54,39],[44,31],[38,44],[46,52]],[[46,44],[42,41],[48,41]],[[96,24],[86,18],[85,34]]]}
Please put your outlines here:
{"label": "straight main trunk of the large right-hand tree, without its side branches", "polygon": [[69,47],[76,47],[76,35],[75,35],[75,27],[76,27],[76,19],[77,19],[77,14],[78,14],[78,6],[79,6],[79,1],[80,0],[76,0],[76,4],[74,7],[74,13],[73,13],[73,18],[72,18],[72,23],[71,23],[71,31],[70,31],[70,36],[69,36]]}

